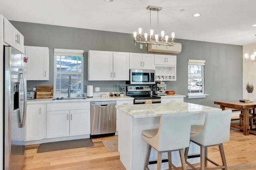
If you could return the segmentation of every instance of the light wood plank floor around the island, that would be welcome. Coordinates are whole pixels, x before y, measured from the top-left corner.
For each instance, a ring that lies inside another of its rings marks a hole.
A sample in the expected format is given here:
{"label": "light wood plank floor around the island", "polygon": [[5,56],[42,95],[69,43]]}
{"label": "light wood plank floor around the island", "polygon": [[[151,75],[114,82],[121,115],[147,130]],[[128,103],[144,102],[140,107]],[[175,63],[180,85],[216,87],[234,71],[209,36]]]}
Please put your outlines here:
{"label": "light wood plank floor around the island", "polygon": [[[36,146],[27,146],[24,170],[125,170],[119,152],[108,152],[102,140],[117,136],[93,139],[94,146],[53,152],[36,153]],[[256,170],[256,136],[244,136],[239,130],[230,130],[230,141],[224,143],[229,170]],[[218,147],[209,147],[208,156],[221,163]],[[143,163],[143,162],[142,162]],[[208,167],[212,167],[208,163]]]}

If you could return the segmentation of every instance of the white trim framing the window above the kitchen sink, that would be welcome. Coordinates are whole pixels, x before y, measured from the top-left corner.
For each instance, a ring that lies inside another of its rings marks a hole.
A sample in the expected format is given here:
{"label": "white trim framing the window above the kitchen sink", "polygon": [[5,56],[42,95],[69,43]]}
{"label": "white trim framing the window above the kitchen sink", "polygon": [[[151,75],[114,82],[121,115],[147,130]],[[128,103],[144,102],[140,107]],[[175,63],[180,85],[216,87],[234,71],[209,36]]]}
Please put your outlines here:
{"label": "white trim framing the window above the kitchen sink", "polygon": [[[78,49],[58,49],[58,48],[54,48],[54,78],[53,78],[53,84],[54,84],[54,91],[53,91],[53,95],[54,97],[68,97],[68,94],[67,95],[61,95],[61,94],[56,94],[56,75],[57,73],[57,69],[56,69],[56,63],[57,63],[57,57],[55,57],[55,55],[70,55],[70,56],[78,56],[78,57],[82,57],[82,60],[81,60],[81,70],[82,70],[82,74],[81,74],[81,77],[82,77],[82,83],[81,83],[81,86],[82,86],[82,89],[81,89],[81,94],[84,94],[84,50],[78,50]],[[73,73],[69,73],[69,74],[73,74]],[[74,73],[76,74],[76,73]],[[61,95],[61,96],[60,96]],[[77,97],[77,93],[76,94],[72,94],[70,93],[70,97]]]}

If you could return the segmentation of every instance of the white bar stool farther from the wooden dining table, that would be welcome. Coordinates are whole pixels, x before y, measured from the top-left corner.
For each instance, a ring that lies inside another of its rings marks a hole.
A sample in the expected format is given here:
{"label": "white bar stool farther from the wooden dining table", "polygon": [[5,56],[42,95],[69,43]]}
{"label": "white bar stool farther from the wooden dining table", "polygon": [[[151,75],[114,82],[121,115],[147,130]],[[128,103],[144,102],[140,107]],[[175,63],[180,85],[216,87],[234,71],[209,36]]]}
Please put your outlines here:
{"label": "white bar stool farther from the wooden dining table", "polygon": [[148,170],[152,147],[158,152],[157,170],[161,170],[163,152],[168,152],[169,169],[176,168],[171,158],[171,152],[176,150],[180,152],[182,170],[186,170],[183,148],[189,146],[191,119],[191,113],[163,114],[160,117],[159,128],[142,131],[141,138],[148,143],[144,170]]}

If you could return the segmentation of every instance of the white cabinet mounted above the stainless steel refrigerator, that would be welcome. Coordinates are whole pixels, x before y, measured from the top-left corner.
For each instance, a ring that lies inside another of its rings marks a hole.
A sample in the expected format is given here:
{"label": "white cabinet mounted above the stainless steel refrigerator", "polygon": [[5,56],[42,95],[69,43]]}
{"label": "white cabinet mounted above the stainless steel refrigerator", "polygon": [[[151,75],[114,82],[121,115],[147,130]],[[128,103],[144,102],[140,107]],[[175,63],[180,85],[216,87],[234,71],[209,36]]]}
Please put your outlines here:
{"label": "white cabinet mounted above the stainless steel refrigerator", "polygon": [[4,18],[4,42],[24,53],[24,36]]}

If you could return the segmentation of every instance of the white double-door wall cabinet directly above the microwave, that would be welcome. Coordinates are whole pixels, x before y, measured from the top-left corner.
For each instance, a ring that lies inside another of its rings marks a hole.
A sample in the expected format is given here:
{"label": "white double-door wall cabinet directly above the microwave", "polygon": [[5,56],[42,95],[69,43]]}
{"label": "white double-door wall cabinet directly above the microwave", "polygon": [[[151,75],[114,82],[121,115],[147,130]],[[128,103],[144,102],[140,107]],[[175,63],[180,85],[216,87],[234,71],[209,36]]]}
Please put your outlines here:
{"label": "white double-door wall cabinet directly above the microwave", "polygon": [[130,53],[130,69],[154,70],[154,54]]}

